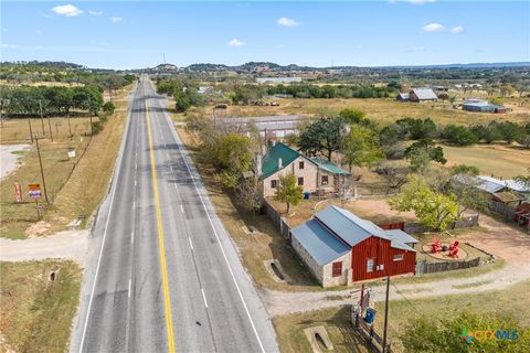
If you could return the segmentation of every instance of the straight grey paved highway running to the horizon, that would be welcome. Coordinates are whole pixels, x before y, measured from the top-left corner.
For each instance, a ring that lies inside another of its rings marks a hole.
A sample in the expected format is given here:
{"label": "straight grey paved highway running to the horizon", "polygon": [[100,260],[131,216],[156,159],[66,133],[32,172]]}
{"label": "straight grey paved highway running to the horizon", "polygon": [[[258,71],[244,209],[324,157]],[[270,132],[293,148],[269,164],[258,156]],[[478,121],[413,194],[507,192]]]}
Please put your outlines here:
{"label": "straight grey paved highway running to the horizon", "polygon": [[276,334],[151,82],[93,231],[71,352],[276,352]]}

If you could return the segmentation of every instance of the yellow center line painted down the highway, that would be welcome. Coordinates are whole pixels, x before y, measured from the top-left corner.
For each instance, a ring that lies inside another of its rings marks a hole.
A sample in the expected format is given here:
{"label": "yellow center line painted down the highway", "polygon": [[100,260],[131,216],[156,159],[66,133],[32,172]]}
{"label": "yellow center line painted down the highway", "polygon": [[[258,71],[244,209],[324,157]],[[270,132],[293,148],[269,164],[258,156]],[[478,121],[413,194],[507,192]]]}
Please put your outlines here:
{"label": "yellow center line painted down the highway", "polygon": [[[144,86],[144,97],[146,97],[146,86]],[[174,334],[173,334],[173,320],[171,319],[171,300],[169,297],[169,281],[168,281],[168,269],[166,267],[166,249],[163,247],[163,228],[162,228],[162,215],[160,213],[160,201],[158,194],[158,181],[157,181],[157,169],[155,162],[155,153],[152,151],[152,137],[151,137],[151,126],[149,124],[149,110],[146,104],[146,121],[147,121],[147,137],[149,140],[149,156],[151,158],[151,173],[152,173],[152,189],[155,191],[155,210],[157,213],[157,227],[158,227],[158,245],[160,248],[160,267],[162,270],[162,291],[163,291],[163,303],[166,309],[166,329],[168,333],[168,352],[176,352],[174,349]]]}

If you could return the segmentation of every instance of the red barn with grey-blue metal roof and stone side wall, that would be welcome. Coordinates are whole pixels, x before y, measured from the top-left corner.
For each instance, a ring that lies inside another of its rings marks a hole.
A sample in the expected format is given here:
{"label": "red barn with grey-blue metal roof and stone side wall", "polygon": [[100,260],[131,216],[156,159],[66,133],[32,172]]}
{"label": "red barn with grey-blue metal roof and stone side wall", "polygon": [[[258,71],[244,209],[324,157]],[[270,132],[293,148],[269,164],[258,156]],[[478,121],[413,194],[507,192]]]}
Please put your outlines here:
{"label": "red barn with grey-blue metal roof and stone side wall", "polygon": [[322,287],[415,271],[415,238],[337,206],[318,212],[290,235],[293,248]]}

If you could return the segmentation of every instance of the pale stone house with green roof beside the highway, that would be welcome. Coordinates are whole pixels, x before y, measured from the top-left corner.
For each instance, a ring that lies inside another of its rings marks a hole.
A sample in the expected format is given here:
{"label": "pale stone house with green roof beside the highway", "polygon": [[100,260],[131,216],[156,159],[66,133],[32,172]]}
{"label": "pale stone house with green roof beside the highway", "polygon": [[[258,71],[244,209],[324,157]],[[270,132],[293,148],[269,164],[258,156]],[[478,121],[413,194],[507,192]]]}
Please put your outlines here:
{"label": "pale stone house with green roof beside the highway", "polygon": [[348,184],[350,173],[319,158],[307,158],[290,147],[278,142],[262,159],[261,179],[265,197],[276,194],[279,176],[295,174],[304,192],[338,192]]}

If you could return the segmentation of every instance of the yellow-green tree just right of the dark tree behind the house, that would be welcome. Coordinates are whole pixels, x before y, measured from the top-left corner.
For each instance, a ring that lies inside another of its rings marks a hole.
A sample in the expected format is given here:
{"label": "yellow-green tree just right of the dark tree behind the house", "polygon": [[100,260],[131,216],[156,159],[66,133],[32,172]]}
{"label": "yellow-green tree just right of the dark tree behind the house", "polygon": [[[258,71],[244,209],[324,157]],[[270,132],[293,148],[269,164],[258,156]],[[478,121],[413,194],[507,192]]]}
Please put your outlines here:
{"label": "yellow-green tree just right of the dark tree behind the house", "polygon": [[378,145],[378,136],[367,127],[353,124],[344,140],[344,162],[351,167],[371,165],[383,158]]}

